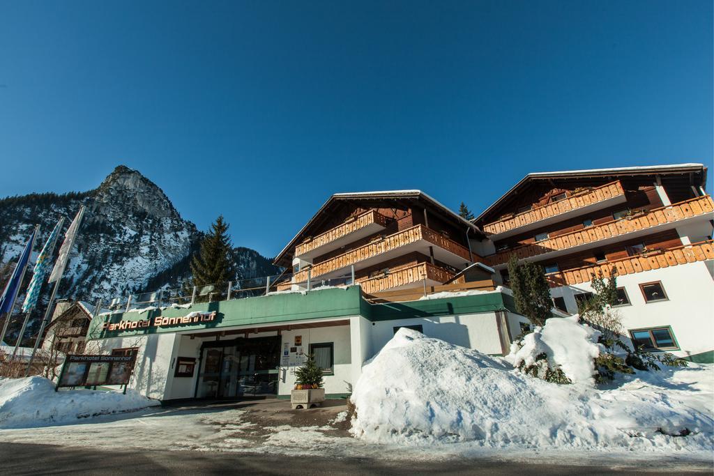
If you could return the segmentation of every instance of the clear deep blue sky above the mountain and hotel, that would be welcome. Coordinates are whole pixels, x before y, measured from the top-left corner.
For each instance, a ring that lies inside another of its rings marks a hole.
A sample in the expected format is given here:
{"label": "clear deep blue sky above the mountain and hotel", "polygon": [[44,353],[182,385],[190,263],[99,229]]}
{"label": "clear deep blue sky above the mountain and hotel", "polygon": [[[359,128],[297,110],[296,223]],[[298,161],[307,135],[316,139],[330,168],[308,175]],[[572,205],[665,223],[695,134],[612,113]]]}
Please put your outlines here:
{"label": "clear deep blue sky above the mountain and hotel", "polygon": [[274,255],[331,193],[478,212],[530,171],[711,166],[712,18],[708,0],[1,0],[0,196],[123,163]]}

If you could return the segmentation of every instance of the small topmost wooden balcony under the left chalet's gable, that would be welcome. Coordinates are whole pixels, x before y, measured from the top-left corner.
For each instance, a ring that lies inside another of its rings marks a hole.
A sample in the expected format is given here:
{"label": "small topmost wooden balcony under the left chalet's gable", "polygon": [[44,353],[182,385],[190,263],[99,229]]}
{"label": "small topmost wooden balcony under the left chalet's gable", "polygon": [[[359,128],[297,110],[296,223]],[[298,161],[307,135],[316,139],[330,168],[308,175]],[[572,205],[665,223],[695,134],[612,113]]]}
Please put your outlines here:
{"label": "small topmost wooden balcony under the left chalet's gable", "polygon": [[337,249],[342,243],[345,243],[343,238],[349,237],[350,240],[357,240],[363,238],[363,236],[376,233],[386,226],[386,216],[370,210],[351,218],[325,233],[321,233],[311,240],[300,243],[295,247],[295,256],[296,258],[309,258],[318,253],[327,253],[328,251]]}

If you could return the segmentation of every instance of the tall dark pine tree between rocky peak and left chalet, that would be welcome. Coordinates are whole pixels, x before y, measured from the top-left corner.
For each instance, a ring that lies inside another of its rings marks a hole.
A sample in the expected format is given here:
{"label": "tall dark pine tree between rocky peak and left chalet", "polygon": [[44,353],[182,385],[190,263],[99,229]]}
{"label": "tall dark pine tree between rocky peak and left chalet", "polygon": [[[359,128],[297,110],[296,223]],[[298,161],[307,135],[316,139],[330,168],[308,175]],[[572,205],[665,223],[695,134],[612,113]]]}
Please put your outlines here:
{"label": "tall dark pine tree between rocky peak and left chalet", "polygon": [[218,216],[210,233],[201,240],[200,250],[191,258],[192,285],[222,284],[235,278],[233,245],[227,231],[228,223]]}

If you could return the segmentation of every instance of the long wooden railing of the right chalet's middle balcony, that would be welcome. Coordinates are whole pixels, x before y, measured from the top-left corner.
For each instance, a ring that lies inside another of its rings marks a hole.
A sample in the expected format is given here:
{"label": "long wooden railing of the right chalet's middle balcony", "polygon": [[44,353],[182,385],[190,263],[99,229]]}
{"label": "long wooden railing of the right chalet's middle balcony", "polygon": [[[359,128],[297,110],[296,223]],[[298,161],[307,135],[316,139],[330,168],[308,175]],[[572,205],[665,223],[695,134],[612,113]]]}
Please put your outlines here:
{"label": "long wooden railing of the right chalet's middle balcony", "polygon": [[538,241],[538,243],[503,250],[496,254],[485,256],[484,260],[490,266],[502,265],[508,263],[508,258],[513,253],[516,253],[518,259],[531,258],[531,256],[550,253],[550,251],[565,250],[584,243],[593,243],[614,236],[627,235],[634,231],[652,228],[665,223],[673,223],[684,218],[711,213],[712,211],[714,211],[714,203],[712,203],[710,196],[690,198],[683,202],[655,208],[634,216],[608,221],[608,223],[600,225],[588,226],[588,228],[548,238],[547,240]]}

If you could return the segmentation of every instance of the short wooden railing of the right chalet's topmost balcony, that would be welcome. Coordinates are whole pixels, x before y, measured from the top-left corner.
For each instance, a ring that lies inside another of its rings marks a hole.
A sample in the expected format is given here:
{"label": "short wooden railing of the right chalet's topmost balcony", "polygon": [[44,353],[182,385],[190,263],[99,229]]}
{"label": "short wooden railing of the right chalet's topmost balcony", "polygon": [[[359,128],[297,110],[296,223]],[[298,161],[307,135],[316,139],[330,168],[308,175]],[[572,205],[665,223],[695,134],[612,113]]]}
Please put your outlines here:
{"label": "short wooden railing of the right chalet's topmost balcony", "polygon": [[491,234],[503,233],[504,231],[513,230],[513,228],[519,228],[530,223],[545,220],[545,218],[550,218],[551,216],[560,215],[560,213],[565,213],[566,211],[577,210],[578,208],[583,208],[593,203],[624,195],[625,190],[620,181],[606,183],[597,188],[573,193],[573,195],[568,198],[563,198],[563,200],[547,203],[528,211],[516,213],[516,215],[512,217],[502,218],[499,221],[488,223],[483,226],[483,231]]}

